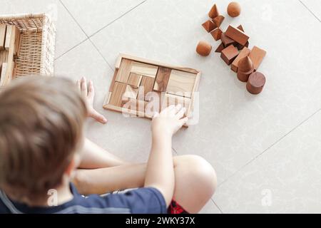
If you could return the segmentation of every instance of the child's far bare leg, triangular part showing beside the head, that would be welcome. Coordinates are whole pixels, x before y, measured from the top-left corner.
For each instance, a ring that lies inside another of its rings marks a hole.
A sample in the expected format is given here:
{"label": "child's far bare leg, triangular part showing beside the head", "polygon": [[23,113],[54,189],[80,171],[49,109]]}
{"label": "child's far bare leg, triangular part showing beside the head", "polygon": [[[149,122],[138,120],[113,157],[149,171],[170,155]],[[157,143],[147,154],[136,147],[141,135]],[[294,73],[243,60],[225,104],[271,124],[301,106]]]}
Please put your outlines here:
{"label": "child's far bare leg, triangular part showing beside the head", "polygon": [[79,168],[82,169],[98,169],[128,164],[128,162],[103,150],[88,139],[85,139],[82,150],[82,160],[79,165]]}

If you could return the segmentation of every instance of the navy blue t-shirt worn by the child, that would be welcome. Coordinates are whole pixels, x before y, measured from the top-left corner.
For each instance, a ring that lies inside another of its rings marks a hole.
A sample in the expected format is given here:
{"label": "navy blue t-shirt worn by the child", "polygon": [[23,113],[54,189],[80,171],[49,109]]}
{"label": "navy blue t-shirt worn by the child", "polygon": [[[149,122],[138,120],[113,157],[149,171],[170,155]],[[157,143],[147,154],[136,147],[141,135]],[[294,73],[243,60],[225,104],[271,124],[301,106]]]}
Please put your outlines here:
{"label": "navy blue t-shirt worn by the child", "polygon": [[166,204],[161,192],[153,187],[130,190],[106,196],[89,195],[83,197],[71,184],[73,199],[54,207],[29,207],[14,202],[0,190],[0,213],[14,214],[161,214],[166,213]]}

